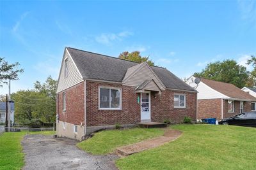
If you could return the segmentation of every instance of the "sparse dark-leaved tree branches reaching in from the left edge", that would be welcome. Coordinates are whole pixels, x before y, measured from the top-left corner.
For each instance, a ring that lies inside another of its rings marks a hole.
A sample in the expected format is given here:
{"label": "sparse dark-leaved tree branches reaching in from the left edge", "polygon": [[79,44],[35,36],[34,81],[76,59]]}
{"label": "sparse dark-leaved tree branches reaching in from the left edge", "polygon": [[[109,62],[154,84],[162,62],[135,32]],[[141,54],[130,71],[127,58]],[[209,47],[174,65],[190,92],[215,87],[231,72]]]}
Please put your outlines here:
{"label": "sparse dark-leaved tree branches reaching in from the left edge", "polygon": [[2,83],[7,83],[7,80],[19,80],[18,74],[23,73],[23,69],[19,69],[19,62],[8,64],[4,58],[0,57],[0,87]]}

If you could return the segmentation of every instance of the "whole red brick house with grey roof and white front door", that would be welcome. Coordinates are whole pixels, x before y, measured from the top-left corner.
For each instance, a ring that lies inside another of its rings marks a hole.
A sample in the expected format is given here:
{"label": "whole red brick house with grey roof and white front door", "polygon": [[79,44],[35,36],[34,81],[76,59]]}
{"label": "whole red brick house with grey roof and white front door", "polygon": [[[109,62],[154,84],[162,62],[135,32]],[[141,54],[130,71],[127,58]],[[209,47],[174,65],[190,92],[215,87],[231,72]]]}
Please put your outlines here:
{"label": "whole red brick house with grey roof and white front door", "polygon": [[138,122],[196,120],[196,90],[163,67],[65,48],[57,88],[57,134],[81,139]]}

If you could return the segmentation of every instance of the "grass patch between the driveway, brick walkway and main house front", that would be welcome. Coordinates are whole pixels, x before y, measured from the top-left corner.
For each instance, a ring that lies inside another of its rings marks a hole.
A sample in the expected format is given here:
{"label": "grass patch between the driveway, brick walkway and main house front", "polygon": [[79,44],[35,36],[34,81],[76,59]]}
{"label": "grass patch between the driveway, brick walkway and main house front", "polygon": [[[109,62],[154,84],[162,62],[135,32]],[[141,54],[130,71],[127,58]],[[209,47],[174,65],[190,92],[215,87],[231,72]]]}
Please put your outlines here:
{"label": "grass patch between the driveway, brick walkway and main house front", "polygon": [[163,135],[163,129],[125,129],[97,132],[93,138],[78,143],[77,146],[94,155],[114,152],[118,146],[137,143],[145,139]]}

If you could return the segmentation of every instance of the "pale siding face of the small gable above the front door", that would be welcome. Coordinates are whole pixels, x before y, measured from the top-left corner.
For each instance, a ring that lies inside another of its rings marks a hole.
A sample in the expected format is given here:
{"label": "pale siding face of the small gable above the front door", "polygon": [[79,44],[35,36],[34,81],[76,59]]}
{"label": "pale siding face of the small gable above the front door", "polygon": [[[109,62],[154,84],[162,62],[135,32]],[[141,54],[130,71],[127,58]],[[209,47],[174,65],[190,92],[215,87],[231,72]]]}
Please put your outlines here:
{"label": "pale siding face of the small gable above the front door", "polygon": [[150,66],[148,66],[146,62],[141,65],[140,69],[136,70],[133,74],[131,74],[131,76],[124,80],[124,85],[138,87],[145,80],[150,79],[153,79],[161,90],[165,89],[163,83],[159,80],[159,78],[157,78],[154,71],[150,69]]}

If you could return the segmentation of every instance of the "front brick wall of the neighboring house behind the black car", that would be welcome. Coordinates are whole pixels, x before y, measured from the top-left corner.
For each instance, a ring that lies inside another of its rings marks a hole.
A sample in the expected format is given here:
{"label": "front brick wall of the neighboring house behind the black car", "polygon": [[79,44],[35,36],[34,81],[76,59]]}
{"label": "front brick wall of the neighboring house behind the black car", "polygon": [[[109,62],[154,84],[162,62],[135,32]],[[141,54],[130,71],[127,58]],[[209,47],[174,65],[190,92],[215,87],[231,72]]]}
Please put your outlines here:
{"label": "front brick wall of the neighboring house behind the black car", "polygon": [[[244,101],[244,112],[252,111],[252,105],[249,101]],[[240,113],[240,101],[235,101],[234,113],[228,113],[228,100],[223,100],[223,118],[233,117]]]}

